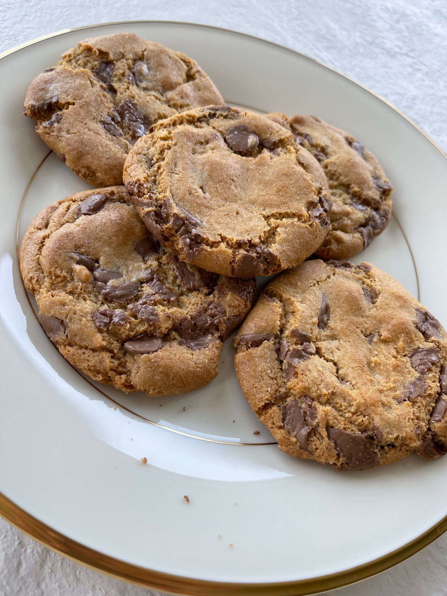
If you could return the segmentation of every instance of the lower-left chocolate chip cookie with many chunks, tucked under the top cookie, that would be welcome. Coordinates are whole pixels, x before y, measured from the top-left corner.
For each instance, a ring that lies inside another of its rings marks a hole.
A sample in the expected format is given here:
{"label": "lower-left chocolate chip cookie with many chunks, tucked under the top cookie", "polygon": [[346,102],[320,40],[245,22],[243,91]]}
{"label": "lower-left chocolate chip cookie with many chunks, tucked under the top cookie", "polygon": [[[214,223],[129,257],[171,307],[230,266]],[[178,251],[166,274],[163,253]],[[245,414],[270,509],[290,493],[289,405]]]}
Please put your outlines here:
{"label": "lower-left chocolate chip cookie with many chunks, tucked under the top cookie", "polygon": [[254,280],[210,274],[160,247],[124,187],[46,207],[27,229],[20,266],[64,358],[101,383],[149,396],[216,377],[222,341],[254,289]]}

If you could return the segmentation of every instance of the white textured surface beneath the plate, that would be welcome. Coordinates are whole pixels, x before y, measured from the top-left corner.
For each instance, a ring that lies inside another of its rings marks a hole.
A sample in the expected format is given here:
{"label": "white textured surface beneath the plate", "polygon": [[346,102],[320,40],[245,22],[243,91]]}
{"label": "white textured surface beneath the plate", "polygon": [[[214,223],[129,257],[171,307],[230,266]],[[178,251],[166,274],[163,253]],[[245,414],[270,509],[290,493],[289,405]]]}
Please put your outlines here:
{"label": "white textured surface beneath the plate", "polygon": [[[373,89],[447,151],[446,0],[3,0],[1,7],[0,52],[57,30],[129,19],[190,21],[269,39]],[[332,594],[445,596],[446,585],[447,533],[399,566]],[[0,594],[156,592],[85,569],[0,520]]]}

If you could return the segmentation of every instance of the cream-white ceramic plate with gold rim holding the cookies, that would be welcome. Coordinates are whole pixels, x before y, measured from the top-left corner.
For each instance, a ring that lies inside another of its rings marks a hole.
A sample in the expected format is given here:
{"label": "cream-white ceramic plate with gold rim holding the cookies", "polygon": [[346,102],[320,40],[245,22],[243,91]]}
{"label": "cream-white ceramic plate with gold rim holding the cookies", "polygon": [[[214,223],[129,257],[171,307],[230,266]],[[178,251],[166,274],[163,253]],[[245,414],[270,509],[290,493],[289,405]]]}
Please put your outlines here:
{"label": "cream-white ceramic plate with gold rim holding the cookies", "polygon": [[296,460],[247,406],[231,339],[209,386],[149,399],[89,382],[39,326],[16,228],[20,243],[39,210],[88,187],[23,116],[26,89],[80,39],[126,31],[195,58],[229,104],[316,114],[367,145],[395,187],[394,216],[355,260],[447,325],[447,162],[371,92],[289,49],[191,24],[108,24],[24,46],[0,61],[0,513],[96,569],[188,594],[309,594],[386,569],[446,529],[447,457],[361,473]]}

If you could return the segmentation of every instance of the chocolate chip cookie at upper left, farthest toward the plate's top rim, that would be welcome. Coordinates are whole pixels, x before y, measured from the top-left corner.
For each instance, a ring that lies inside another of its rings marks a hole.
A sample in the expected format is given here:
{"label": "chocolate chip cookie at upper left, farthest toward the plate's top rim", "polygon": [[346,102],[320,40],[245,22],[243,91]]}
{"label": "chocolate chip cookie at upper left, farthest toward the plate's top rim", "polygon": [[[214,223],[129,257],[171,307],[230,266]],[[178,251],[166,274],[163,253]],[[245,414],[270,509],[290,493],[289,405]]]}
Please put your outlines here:
{"label": "chocolate chip cookie at upper left, farthest toward the plate's top rim", "polygon": [[85,39],[31,83],[26,115],[95,186],[122,184],[129,149],[160,119],[224,100],[198,64],[133,33]]}

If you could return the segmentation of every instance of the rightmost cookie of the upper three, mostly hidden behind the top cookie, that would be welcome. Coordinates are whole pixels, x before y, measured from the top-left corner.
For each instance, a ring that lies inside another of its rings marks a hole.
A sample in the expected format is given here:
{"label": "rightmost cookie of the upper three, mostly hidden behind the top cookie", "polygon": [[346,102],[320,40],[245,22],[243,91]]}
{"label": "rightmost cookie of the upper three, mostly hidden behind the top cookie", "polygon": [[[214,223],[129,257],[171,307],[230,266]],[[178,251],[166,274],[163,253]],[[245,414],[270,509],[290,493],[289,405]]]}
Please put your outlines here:
{"label": "rightmost cookie of the upper three, mostly hidden behind the top cookie", "polygon": [[296,141],[311,151],[327,176],[333,207],[330,230],[315,254],[348,259],[386,228],[392,186],[377,159],[347,132],[314,116],[267,117],[290,128]]}

